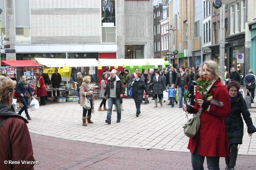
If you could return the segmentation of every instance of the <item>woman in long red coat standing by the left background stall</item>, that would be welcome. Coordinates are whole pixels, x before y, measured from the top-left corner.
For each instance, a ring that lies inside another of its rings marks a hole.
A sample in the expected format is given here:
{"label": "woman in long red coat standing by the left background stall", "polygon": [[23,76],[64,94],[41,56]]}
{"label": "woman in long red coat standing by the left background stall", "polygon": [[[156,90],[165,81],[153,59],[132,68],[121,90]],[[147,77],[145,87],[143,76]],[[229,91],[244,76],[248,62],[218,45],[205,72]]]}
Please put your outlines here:
{"label": "woman in long red coat standing by the left background stall", "polygon": [[40,106],[45,106],[46,105],[46,99],[45,96],[47,96],[46,88],[44,85],[44,78],[41,76],[40,73],[36,73],[36,78],[37,78],[37,83],[36,83],[36,88],[37,88],[37,97],[40,97]]}

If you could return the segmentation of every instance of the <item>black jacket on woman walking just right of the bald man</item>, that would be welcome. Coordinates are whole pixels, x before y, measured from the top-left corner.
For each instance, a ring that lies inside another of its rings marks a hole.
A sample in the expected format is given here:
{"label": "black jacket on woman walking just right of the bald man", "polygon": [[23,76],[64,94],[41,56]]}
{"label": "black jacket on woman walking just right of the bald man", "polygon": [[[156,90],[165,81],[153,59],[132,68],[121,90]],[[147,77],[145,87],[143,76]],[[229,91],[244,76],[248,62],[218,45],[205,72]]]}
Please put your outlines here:
{"label": "black jacket on woman walking just right of the bald man", "polygon": [[148,95],[148,89],[146,87],[146,83],[142,78],[140,80],[135,80],[133,84],[132,89],[132,98],[134,100],[142,100],[144,90],[146,92],[146,95]]}

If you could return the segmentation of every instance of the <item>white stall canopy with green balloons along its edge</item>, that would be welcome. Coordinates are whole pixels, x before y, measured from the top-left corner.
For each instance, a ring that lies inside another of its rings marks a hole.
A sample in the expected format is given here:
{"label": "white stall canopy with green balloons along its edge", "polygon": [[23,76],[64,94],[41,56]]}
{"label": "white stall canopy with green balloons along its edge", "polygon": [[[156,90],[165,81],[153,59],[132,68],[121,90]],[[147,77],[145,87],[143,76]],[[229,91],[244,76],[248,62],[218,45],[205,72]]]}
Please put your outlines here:
{"label": "white stall canopy with green balloons along its edge", "polygon": [[99,59],[101,66],[146,66],[149,62],[150,66],[163,65],[164,59]]}

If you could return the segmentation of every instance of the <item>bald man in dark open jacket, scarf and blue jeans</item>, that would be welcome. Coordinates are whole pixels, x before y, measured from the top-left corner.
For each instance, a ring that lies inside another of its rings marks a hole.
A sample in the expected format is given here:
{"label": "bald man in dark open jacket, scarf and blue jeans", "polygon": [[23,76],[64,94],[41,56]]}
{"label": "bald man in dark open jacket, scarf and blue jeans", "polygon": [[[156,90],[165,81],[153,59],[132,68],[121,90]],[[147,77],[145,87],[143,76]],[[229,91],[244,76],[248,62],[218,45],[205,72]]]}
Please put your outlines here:
{"label": "bald man in dark open jacket, scarf and blue jeans", "polygon": [[106,87],[106,91],[104,93],[104,98],[108,95],[108,115],[106,119],[106,123],[111,124],[111,115],[112,115],[112,107],[113,104],[116,104],[117,109],[117,121],[119,123],[121,120],[121,108],[120,108],[120,100],[125,93],[124,83],[123,81],[116,76],[116,71],[113,70],[110,72],[110,77],[108,78],[108,83]]}

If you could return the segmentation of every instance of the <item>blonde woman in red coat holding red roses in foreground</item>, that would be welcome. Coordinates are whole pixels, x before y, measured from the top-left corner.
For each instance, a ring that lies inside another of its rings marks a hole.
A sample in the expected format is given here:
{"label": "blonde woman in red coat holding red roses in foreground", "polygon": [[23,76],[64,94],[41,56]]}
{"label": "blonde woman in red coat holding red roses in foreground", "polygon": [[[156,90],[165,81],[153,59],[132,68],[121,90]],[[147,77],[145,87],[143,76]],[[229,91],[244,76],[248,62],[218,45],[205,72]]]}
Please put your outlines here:
{"label": "blonde woman in red coat holding red roses in foreground", "polygon": [[209,170],[219,170],[220,157],[229,156],[228,135],[224,118],[230,116],[230,97],[226,86],[222,84],[219,76],[218,64],[214,61],[206,61],[202,64],[201,74],[211,78],[212,83],[208,88],[212,99],[223,103],[222,107],[210,104],[210,101],[201,99],[201,94],[196,90],[195,106],[184,105],[184,111],[190,107],[190,113],[197,113],[202,107],[200,117],[201,125],[198,134],[189,139],[188,149],[190,149],[193,170],[204,169],[204,157],[207,158]]}

